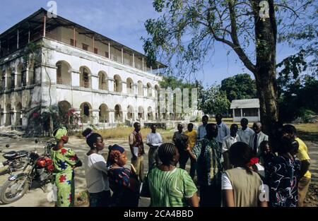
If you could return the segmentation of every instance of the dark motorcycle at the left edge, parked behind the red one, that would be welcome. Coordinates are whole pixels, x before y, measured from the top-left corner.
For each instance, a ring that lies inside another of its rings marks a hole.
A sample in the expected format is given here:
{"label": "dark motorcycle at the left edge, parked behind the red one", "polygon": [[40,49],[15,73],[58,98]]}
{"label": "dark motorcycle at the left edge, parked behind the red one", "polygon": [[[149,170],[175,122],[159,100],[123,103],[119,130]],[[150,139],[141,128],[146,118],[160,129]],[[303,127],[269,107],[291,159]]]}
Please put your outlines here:
{"label": "dark motorcycle at the left edge, parked behind the red one", "polygon": [[[6,148],[9,148],[10,145],[6,145]],[[0,153],[3,153],[1,150]],[[1,174],[12,174],[13,172],[18,172],[23,169],[25,165],[25,157],[28,156],[28,151],[20,150],[20,151],[10,151],[8,153],[4,153],[2,155],[6,161],[0,162],[0,170]]]}

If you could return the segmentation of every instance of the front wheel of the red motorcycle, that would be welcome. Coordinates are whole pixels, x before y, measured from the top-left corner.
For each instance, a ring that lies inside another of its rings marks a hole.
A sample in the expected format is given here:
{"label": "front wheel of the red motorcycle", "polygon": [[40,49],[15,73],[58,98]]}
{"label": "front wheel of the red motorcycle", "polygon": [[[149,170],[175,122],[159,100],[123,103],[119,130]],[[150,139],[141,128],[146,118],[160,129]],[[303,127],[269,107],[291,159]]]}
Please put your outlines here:
{"label": "front wheel of the red motorcycle", "polygon": [[[22,182],[24,183],[22,184]],[[18,186],[20,189],[18,189]],[[22,198],[30,186],[30,180],[27,174],[18,174],[18,177],[12,181],[8,180],[0,189],[0,201],[5,204],[10,204]]]}

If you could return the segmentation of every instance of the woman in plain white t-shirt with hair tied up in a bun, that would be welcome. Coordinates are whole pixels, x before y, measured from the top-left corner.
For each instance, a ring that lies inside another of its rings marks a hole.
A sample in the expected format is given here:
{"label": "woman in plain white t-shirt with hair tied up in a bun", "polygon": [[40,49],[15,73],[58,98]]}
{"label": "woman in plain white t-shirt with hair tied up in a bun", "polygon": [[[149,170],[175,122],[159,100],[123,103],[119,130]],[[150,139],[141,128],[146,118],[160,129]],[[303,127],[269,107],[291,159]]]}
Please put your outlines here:
{"label": "woman in plain white t-shirt with hair tied up in a bun", "polygon": [[107,177],[106,160],[99,152],[104,149],[102,136],[86,129],[83,133],[90,151],[85,155],[84,167],[86,184],[90,198],[90,207],[108,207],[110,205],[110,184]]}

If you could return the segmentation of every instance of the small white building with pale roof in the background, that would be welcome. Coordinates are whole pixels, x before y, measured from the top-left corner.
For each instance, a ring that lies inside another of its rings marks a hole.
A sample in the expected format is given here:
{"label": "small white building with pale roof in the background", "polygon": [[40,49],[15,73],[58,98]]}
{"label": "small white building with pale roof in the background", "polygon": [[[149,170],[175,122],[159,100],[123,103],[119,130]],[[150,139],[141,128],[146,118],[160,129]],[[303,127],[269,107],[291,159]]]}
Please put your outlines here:
{"label": "small white building with pale roof in the background", "polygon": [[233,100],[230,107],[233,111],[233,121],[239,122],[242,118],[260,121],[259,107],[259,99]]}

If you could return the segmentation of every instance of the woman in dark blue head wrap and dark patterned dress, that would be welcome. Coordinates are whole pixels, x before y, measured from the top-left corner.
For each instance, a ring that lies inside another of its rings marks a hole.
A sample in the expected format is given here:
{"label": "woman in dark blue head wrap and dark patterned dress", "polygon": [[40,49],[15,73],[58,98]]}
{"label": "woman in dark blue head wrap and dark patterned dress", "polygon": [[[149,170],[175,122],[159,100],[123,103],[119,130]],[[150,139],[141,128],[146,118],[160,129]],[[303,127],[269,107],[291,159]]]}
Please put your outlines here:
{"label": "woman in dark blue head wrap and dark patterned dress", "polygon": [[[110,165],[108,177],[112,189],[112,207],[138,207],[139,182],[138,177],[130,169],[124,167],[127,153],[119,145],[109,147],[107,164]],[[134,171],[134,169],[133,169]]]}

